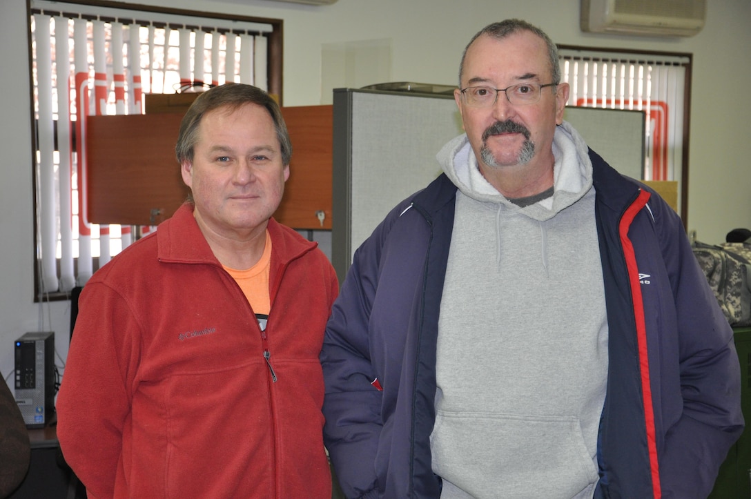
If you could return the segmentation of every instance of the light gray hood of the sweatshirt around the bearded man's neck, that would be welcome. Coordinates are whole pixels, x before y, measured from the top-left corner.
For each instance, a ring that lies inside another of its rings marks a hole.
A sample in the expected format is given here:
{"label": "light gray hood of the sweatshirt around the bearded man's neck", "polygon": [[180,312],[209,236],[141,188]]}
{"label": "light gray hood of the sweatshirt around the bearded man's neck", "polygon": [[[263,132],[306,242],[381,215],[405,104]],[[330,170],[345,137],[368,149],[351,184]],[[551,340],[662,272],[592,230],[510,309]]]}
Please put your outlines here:
{"label": "light gray hood of the sweatshirt around the bearded man's neck", "polygon": [[587,143],[569,122],[564,121],[556,127],[553,156],[553,197],[523,208],[506,199],[480,173],[466,134],[448,142],[436,158],[462,194],[483,203],[496,204],[499,211],[517,211],[534,220],[546,221],[580,200],[592,188],[592,161]]}

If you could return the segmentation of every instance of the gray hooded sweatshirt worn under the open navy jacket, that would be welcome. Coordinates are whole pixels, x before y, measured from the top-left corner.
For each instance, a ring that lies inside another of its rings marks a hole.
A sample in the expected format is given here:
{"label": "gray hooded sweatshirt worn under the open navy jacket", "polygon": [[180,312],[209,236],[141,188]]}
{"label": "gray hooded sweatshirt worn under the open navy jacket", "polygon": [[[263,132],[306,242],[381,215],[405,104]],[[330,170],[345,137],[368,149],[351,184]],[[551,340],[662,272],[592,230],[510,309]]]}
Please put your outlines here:
{"label": "gray hooded sweatshirt worn under the open navy jacket", "polygon": [[520,208],[466,135],[438,159],[457,186],[430,438],[442,498],[592,497],[608,326],[587,145],[553,140],[552,197]]}

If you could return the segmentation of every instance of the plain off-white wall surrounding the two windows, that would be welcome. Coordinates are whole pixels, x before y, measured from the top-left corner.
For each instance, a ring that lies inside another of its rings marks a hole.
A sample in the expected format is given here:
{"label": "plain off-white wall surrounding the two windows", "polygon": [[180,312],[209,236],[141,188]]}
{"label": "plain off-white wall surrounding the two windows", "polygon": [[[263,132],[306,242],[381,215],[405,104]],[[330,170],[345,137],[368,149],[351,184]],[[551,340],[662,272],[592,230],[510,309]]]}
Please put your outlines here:
{"label": "plain off-white wall surrounding the two windows", "polygon": [[[331,44],[379,41],[391,49],[390,81],[455,85],[469,38],[493,20],[521,17],[559,44],[664,50],[694,54],[689,151],[689,229],[722,242],[735,227],[751,227],[751,2],[707,2],[707,25],[692,38],[593,35],[579,30],[579,2],[497,0],[339,0],[312,7],[266,0],[138,0],[195,11],[272,17],[284,23],[284,104],[321,104],[321,50]],[[505,5],[504,5],[505,4]],[[68,351],[68,302],[33,302],[33,206],[29,88],[23,0],[0,3],[0,373],[13,370],[12,341],[27,331],[56,332]],[[385,41],[385,42],[384,42]],[[345,86],[346,82],[342,82]],[[382,83],[375,81],[372,83]]]}

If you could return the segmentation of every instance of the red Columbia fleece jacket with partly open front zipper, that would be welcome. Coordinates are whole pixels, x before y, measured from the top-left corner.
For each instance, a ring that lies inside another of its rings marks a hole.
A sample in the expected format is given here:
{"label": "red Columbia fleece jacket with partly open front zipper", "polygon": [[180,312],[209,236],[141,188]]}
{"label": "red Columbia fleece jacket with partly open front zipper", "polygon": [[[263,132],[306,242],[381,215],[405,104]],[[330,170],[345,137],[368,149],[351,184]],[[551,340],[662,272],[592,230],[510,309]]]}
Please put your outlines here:
{"label": "red Columbia fleece jacket with partly open front zipper", "polygon": [[187,204],[86,283],[57,434],[89,497],[331,496],[318,354],[336,275],[268,230],[265,332]]}

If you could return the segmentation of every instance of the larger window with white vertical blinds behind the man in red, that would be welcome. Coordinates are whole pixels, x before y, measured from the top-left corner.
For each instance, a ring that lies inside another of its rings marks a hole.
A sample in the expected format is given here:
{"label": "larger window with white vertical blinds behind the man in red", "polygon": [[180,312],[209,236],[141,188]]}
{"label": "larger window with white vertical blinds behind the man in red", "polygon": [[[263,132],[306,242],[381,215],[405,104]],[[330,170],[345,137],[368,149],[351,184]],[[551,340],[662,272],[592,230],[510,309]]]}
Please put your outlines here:
{"label": "larger window with white vertical blinds behind the man in red", "polygon": [[[80,0],[81,2],[83,0]],[[137,114],[149,93],[251,83],[281,102],[281,20],[32,0],[38,299],[83,286],[153,227],[86,221],[83,116]]]}

